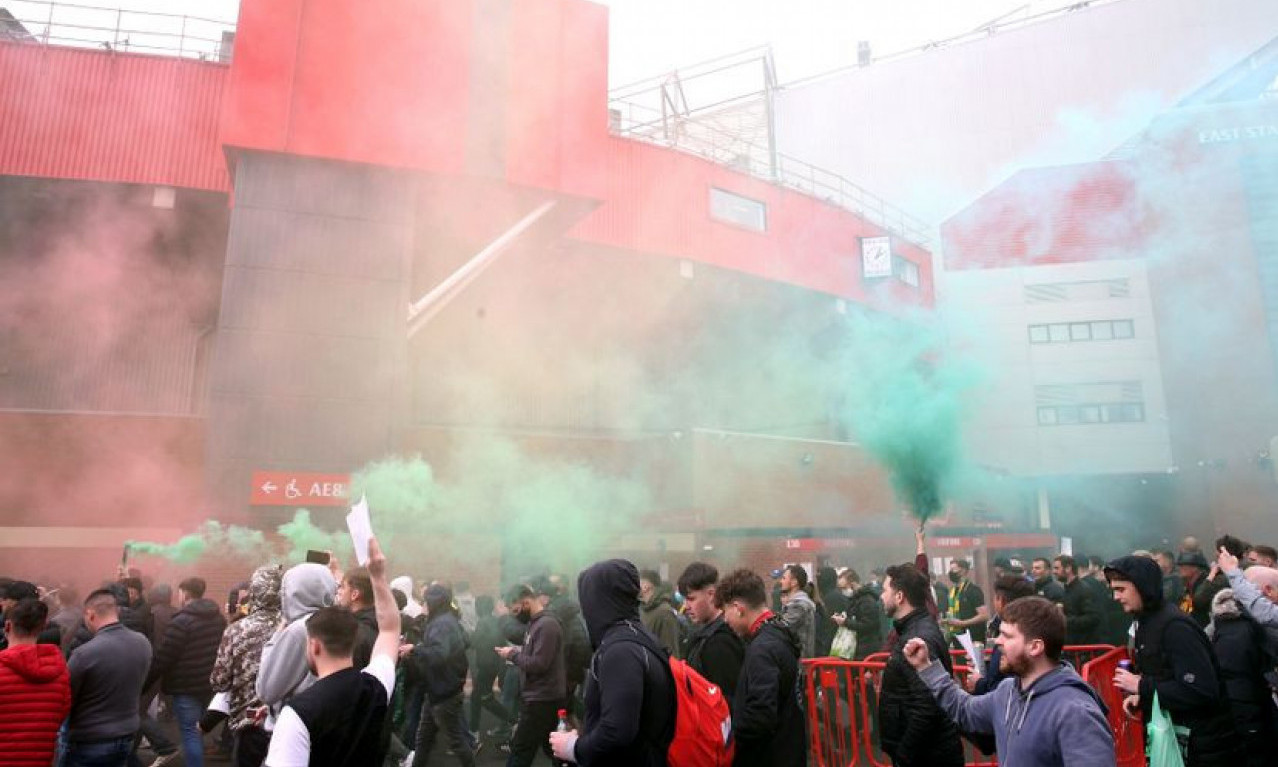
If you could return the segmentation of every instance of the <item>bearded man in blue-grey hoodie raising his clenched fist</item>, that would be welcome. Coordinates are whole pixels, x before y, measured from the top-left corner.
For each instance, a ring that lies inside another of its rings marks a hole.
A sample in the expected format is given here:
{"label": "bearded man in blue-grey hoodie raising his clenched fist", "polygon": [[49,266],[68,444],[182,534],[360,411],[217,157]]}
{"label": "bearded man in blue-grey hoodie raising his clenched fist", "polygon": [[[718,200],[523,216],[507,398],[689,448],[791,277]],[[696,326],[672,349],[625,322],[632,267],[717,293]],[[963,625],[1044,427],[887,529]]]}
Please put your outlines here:
{"label": "bearded man in blue-grey hoodie raising his clenched fist", "polygon": [[919,671],[937,704],[969,732],[993,732],[999,764],[1015,767],[1111,767],[1114,738],[1105,708],[1088,683],[1061,662],[1065,616],[1043,597],[1016,600],[1003,608],[998,629],[1005,679],[987,695],[962,692],[944,667],[930,661],[921,639],[905,657]]}

